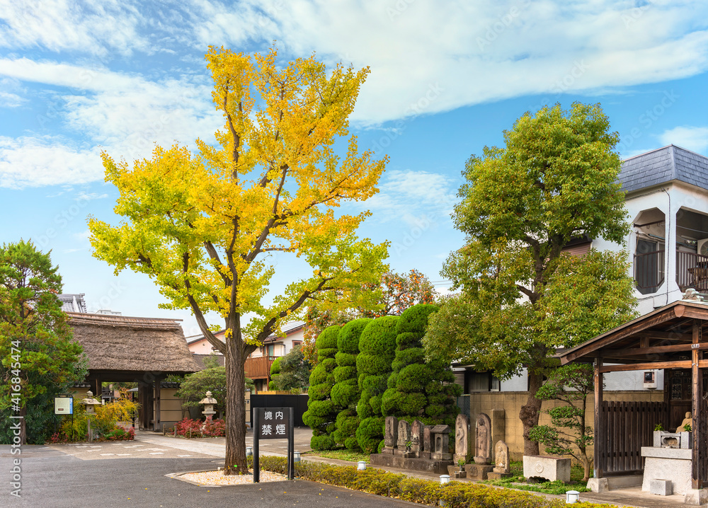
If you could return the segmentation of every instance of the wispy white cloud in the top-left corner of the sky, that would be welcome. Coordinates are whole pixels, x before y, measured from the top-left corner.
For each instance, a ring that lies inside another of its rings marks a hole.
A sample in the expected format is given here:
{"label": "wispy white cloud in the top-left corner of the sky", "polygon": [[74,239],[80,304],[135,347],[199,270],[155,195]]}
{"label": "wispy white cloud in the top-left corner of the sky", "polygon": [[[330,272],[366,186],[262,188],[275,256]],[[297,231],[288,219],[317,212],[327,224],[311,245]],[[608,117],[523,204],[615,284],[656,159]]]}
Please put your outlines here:
{"label": "wispy white cloud in the top-left corner of the sky", "polygon": [[0,0],[0,47],[45,47],[106,55],[149,50],[139,35],[144,23],[127,1]]}

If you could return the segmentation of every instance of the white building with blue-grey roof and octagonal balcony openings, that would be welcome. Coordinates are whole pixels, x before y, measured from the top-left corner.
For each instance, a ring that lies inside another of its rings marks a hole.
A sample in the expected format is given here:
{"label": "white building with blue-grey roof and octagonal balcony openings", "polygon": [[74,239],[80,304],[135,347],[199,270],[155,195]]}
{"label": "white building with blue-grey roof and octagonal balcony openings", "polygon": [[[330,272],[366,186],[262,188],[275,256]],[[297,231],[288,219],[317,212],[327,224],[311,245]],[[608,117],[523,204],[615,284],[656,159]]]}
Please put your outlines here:
{"label": "white building with blue-grey roof and octagonal balcony openings", "polygon": [[[578,239],[565,250],[574,254],[590,247],[626,250],[640,315],[680,300],[689,287],[708,293],[708,157],[673,144],[664,146],[623,161],[618,180],[627,193],[625,206],[632,224],[624,244]],[[525,374],[506,381],[462,367],[455,374],[464,393],[527,389]],[[607,374],[605,389],[661,391],[663,375],[655,371],[653,383],[644,383],[644,372]]]}

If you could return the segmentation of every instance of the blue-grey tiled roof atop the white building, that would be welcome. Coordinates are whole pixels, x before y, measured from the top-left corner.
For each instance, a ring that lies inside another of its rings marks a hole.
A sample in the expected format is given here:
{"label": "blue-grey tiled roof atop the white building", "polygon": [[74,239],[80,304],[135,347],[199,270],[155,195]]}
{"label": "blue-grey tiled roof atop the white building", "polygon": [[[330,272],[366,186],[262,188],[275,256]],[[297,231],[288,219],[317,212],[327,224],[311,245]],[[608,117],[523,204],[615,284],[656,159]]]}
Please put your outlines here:
{"label": "blue-grey tiled roof atop the white building", "polygon": [[670,144],[622,162],[624,192],[679,180],[708,190],[708,157]]}

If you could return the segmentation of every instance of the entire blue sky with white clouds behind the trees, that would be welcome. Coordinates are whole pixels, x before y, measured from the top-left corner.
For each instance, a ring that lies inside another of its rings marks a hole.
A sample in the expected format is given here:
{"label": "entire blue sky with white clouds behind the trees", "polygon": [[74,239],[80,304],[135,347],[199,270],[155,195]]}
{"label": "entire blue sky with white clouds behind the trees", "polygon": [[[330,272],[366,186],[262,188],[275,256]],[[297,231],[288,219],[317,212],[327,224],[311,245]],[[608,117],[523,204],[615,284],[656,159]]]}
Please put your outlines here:
{"label": "entire blue sky with white clouds behind the trees", "polygon": [[213,139],[208,45],[273,40],[285,58],[370,67],[352,132],[391,161],[361,234],[392,242],[394,270],[433,281],[462,245],[450,211],[464,161],[524,112],[599,102],[624,157],[670,143],[708,154],[704,1],[0,0],[0,242],[51,249],[64,291],[91,310],[182,318],[198,333],[188,311],[158,308],[147,277],[91,256],[86,217],[118,221],[98,154]]}

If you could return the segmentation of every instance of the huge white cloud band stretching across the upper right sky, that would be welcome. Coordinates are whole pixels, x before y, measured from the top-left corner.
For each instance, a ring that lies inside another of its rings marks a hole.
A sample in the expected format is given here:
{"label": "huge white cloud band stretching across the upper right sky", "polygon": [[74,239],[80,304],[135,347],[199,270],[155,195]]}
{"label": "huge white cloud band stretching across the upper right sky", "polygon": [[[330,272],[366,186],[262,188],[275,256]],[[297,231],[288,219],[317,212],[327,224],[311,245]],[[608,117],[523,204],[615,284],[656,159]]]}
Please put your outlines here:
{"label": "huge white cloud band stretching across the upper right sky", "polygon": [[287,56],[368,65],[364,123],[528,94],[594,93],[708,69],[708,4],[653,1],[199,0],[202,45],[278,41]]}

